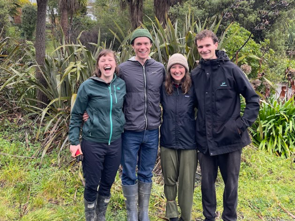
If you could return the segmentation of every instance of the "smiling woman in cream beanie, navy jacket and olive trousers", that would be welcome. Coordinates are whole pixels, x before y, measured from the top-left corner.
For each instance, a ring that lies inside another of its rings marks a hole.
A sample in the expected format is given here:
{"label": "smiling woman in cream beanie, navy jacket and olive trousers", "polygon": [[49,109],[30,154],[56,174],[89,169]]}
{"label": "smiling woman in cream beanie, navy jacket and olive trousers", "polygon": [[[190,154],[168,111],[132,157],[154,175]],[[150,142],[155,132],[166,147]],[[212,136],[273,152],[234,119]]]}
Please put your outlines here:
{"label": "smiling woman in cream beanie, navy jacket and olive trousers", "polygon": [[196,96],[191,85],[189,65],[181,54],[168,60],[166,80],[162,85],[163,122],[160,128],[161,166],[164,176],[166,216],[190,221],[197,167],[195,141]]}

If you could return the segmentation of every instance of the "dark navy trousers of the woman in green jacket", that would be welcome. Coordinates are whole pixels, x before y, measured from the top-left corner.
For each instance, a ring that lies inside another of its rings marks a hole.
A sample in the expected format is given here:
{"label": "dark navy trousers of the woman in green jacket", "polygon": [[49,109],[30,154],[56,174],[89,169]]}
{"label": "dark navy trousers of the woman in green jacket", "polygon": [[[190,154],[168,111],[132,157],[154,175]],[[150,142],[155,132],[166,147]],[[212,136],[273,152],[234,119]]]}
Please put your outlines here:
{"label": "dark navy trousers of the woman in green jacket", "polygon": [[[83,139],[83,176],[85,178],[84,198],[88,202],[96,200],[97,193],[108,197],[114,183],[121,160],[122,140],[107,143],[94,143]],[[97,187],[99,189],[97,190]]]}

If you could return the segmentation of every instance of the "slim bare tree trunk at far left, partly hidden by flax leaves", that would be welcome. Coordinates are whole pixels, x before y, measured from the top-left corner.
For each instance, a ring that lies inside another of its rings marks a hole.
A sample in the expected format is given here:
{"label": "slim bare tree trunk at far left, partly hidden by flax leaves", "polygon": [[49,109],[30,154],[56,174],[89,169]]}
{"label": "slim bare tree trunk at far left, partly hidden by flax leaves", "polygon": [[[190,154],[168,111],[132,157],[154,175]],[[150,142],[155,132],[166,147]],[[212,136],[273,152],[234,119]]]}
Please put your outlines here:
{"label": "slim bare tree trunk at far left, partly hidden by flax leaves", "polygon": [[[45,61],[45,29],[46,29],[46,7],[47,0],[37,0],[37,25],[36,25],[36,41],[35,41],[35,49],[36,49],[36,61],[37,64],[42,67]],[[39,71],[39,68],[36,67],[36,79],[40,84],[46,87],[46,81]],[[42,91],[37,90],[37,100],[41,102],[47,103],[47,96],[42,93]],[[42,103],[38,103],[37,106],[39,108],[43,108],[44,105]]]}

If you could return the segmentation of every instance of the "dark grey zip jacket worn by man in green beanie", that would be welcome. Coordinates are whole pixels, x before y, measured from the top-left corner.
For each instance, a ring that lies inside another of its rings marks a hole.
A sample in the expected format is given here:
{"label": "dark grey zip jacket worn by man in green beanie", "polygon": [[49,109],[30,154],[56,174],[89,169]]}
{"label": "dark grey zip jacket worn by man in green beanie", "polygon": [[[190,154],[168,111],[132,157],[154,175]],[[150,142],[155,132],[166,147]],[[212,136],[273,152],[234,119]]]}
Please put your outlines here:
{"label": "dark grey zip jacket worn by man in green beanie", "polygon": [[125,130],[143,131],[161,124],[160,88],[165,79],[165,68],[160,62],[148,59],[142,66],[135,57],[119,65],[120,75],[126,83],[123,112]]}

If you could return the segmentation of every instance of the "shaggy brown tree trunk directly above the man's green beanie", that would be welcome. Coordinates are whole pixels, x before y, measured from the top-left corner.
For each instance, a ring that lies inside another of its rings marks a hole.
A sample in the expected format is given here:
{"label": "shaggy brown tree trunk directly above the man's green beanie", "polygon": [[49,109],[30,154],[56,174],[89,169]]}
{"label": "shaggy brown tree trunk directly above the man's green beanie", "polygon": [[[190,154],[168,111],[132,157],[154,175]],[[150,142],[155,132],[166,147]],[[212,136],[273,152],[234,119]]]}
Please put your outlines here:
{"label": "shaggy brown tree trunk directly above the man's green beanie", "polygon": [[129,15],[132,29],[136,29],[142,23],[143,0],[129,2]]}

